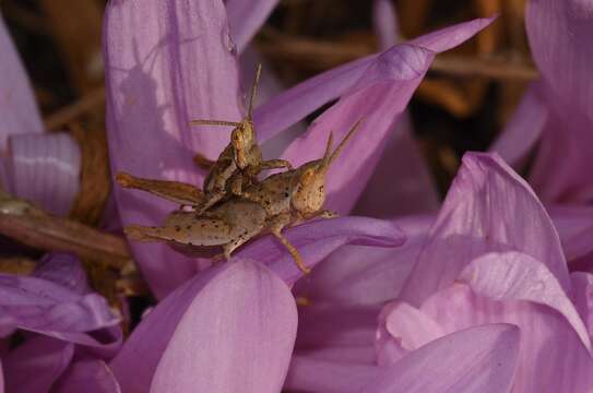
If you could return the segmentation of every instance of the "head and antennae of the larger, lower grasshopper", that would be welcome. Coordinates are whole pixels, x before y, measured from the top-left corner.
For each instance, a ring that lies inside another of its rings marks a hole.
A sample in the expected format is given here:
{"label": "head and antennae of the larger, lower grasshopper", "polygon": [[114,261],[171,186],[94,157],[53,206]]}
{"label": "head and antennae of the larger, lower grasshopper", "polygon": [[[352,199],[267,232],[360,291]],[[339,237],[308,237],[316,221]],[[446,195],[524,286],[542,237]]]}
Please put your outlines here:
{"label": "head and antennae of the larger, lower grasshopper", "polygon": [[330,133],[323,158],[307,163],[298,169],[300,174],[292,200],[295,210],[307,215],[323,207],[325,202],[325,174],[331,163],[340,155],[348,139],[358,128],[358,124],[360,124],[360,120],[352,127],[333,153],[331,153],[333,138]]}

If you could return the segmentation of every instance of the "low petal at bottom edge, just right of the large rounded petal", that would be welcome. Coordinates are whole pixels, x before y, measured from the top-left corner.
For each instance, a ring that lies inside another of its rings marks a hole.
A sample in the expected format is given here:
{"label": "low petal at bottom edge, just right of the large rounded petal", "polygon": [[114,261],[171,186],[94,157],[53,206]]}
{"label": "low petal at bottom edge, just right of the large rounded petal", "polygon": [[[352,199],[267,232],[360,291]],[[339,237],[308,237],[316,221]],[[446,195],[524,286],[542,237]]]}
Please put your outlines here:
{"label": "low petal at bottom edge, just right of the large rounded petal", "polygon": [[290,391],[355,393],[377,378],[379,368],[319,360],[295,356],[286,377],[285,388]]}

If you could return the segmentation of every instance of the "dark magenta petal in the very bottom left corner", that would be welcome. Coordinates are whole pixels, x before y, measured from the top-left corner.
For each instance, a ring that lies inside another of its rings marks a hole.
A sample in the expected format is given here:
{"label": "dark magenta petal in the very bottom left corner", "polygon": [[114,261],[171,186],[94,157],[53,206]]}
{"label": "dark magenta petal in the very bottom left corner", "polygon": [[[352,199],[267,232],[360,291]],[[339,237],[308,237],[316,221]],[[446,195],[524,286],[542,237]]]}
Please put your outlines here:
{"label": "dark magenta petal in the very bottom left corner", "polygon": [[33,336],[2,359],[8,392],[46,393],[62,374],[74,346],[58,340]]}

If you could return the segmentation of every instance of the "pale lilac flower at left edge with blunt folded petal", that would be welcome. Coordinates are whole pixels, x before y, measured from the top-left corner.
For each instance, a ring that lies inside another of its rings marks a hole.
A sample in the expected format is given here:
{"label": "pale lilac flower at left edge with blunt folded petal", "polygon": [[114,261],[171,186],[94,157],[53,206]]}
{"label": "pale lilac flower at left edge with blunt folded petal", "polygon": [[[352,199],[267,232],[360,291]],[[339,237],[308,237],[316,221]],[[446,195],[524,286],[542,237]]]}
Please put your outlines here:
{"label": "pale lilac flower at left edge with blunt folded petal", "polygon": [[44,133],[27,75],[0,16],[0,187],[67,215],[80,188],[81,153],[66,133]]}

